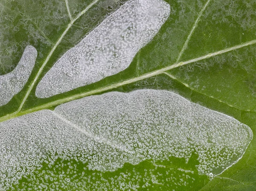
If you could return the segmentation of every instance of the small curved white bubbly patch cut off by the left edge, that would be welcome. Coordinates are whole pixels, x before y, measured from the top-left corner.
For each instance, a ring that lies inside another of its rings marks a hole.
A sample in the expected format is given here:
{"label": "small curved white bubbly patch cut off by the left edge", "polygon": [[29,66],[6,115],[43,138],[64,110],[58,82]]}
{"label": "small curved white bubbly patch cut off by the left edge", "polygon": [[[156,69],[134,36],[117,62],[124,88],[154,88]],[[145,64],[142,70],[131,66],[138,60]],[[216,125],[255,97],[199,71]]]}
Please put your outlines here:
{"label": "small curved white bubbly patch cut off by the left edge", "polygon": [[36,49],[33,46],[26,46],[16,68],[9,74],[0,76],[0,106],[8,103],[26,84],[36,57]]}

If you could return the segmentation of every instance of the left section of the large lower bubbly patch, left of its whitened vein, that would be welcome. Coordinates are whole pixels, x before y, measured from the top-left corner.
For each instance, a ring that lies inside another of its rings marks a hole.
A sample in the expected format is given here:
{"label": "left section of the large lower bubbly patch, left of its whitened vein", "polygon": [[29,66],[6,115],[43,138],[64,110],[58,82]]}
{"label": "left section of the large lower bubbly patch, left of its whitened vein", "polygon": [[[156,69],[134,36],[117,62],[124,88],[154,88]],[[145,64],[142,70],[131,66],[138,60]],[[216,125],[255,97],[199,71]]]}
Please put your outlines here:
{"label": "left section of the large lower bubbly patch, left of its whitened vein", "polygon": [[90,169],[104,171],[113,171],[123,162],[140,162],[124,146],[105,142],[54,111],[42,110],[0,123],[0,191],[59,157],[80,157]]}

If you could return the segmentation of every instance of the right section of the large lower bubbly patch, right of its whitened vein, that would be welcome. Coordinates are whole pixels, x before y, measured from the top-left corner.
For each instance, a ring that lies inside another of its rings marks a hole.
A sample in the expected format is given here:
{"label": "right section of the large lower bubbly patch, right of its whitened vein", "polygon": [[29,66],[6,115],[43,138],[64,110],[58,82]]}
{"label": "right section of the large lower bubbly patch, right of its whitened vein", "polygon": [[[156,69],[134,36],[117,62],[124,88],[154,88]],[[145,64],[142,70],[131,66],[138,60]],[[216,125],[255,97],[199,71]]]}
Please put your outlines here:
{"label": "right section of the large lower bubbly patch, right of its whitened vein", "polygon": [[[103,142],[135,151],[139,161],[169,156],[188,161],[195,152],[201,174],[221,174],[240,159],[253,137],[238,120],[170,91],[111,92],[59,105],[55,112]],[[124,163],[117,162],[119,167]]]}

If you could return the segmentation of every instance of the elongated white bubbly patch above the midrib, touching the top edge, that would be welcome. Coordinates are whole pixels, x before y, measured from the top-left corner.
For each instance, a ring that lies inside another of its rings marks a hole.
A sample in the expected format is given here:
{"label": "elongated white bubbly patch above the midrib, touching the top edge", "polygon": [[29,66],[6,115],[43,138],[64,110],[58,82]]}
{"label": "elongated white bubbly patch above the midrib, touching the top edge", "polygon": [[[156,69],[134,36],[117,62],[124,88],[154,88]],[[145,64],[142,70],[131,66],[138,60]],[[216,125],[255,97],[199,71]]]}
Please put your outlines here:
{"label": "elongated white bubbly patch above the midrib, touching the top edge", "polygon": [[55,63],[38,84],[36,96],[51,97],[124,70],[169,13],[163,0],[128,1]]}

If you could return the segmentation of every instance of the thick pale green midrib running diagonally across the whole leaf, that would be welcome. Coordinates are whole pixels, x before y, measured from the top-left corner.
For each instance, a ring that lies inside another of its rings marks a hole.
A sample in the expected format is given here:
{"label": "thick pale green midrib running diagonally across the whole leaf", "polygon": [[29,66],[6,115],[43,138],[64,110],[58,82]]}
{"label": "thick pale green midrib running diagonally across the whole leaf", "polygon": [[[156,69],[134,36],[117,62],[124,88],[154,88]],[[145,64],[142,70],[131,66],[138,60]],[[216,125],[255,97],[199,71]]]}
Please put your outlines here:
{"label": "thick pale green midrib running diagonally across the whole leaf", "polygon": [[162,73],[164,73],[168,70],[171,70],[173,68],[184,66],[184,65],[189,64],[189,63],[195,63],[197,61],[204,60],[204,59],[207,59],[209,57],[213,57],[213,56],[216,56],[216,55],[219,55],[219,54],[224,54],[226,52],[233,51],[233,50],[243,48],[245,46],[249,46],[249,45],[253,45],[253,44],[256,44],[256,40],[251,40],[247,43],[244,43],[244,44],[241,44],[241,45],[238,45],[238,46],[233,46],[231,48],[226,48],[224,50],[217,51],[217,52],[214,52],[214,53],[210,53],[210,54],[204,55],[202,57],[194,58],[192,60],[187,60],[185,62],[175,63],[175,64],[167,66],[165,68],[162,68],[162,69],[159,69],[159,70],[156,70],[156,71],[152,71],[152,72],[149,72],[147,74],[143,74],[141,76],[131,78],[129,80],[125,80],[125,81],[122,81],[122,82],[119,82],[119,83],[115,83],[115,84],[112,84],[110,86],[105,86],[103,88],[95,89],[95,90],[92,90],[92,91],[87,91],[87,92],[84,92],[84,93],[81,93],[81,94],[72,95],[70,97],[66,97],[66,98],[63,98],[63,99],[60,99],[60,100],[55,100],[55,101],[52,101],[52,102],[49,102],[49,103],[46,103],[46,104],[43,104],[43,105],[39,105],[37,107],[30,108],[30,109],[27,109],[27,110],[24,110],[24,111],[18,111],[18,112],[16,111],[12,114],[7,114],[6,116],[0,117],[0,122],[6,121],[6,120],[9,120],[9,119],[12,119],[12,118],[24,115],[24,114],[29,114],[29,113],[32,113],[32,112],[35,112],[35,111],[51,108],[51,107],[59,105],[61,103],[66,103],[66,102],[76,100],[76,99],[79,99],[79,98],[82,98],[82,97],[90,96],[90,95],[93,95],[93,94],[99,94],[99,93],[102,93],[104,91],[111,90],[113,88],[118,88],[120,86],[124,86],[124,85],[134,83],[134,82],[137,82],[137,81],[140,81],[140,80],[144,80],[148,77],[153,77],[153,76],[156,76],[158,74],[162,74]]}

